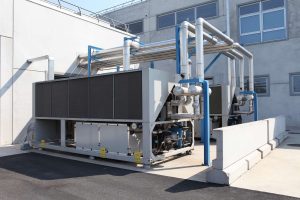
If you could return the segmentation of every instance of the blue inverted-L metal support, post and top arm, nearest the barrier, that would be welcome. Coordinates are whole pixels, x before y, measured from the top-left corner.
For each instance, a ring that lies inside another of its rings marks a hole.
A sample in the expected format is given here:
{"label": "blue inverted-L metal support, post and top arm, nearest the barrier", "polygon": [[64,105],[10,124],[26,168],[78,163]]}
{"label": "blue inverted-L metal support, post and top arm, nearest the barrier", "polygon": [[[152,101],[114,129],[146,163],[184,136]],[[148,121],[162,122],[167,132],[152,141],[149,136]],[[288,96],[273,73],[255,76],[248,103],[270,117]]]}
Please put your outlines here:
{"label": "blue inverted-L metal support, post and top arm, nearest the barrier", "polygon": [[184,79],[179,81],[182,83],[202,84],[203,87],[203,100],[204,100],[204,118],[203,122],[199,122],[200,126],[203,125],[203,144],[204,144],[204,165],[210,165],[210,111],[209,111],[209,82],[200,78]]}

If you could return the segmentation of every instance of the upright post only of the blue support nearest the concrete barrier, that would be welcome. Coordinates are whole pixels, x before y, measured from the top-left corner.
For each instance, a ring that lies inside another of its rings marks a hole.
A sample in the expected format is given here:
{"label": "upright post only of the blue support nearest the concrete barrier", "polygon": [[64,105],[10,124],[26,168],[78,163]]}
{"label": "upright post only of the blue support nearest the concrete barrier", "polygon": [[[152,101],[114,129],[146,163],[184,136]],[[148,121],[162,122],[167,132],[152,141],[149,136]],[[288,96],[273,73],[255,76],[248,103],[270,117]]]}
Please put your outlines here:
{"label": "upright post only of the blue support nearest the concrete barrier", "polygon": [[204,98],[204,165],[210,165],[210,117],[209,117],[209,82],[203,81],[203,98]]}

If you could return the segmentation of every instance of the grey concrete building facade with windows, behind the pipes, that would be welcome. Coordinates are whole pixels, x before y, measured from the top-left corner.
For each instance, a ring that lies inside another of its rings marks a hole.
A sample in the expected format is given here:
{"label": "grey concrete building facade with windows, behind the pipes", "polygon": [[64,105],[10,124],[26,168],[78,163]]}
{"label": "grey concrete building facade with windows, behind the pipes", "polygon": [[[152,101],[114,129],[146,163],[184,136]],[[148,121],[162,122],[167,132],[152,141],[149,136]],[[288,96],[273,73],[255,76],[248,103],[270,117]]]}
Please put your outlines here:
{"label": "grey concrete building facade with windows, behind the pipes", "polygon": [[[300,127],[300,1],[229,2],[231,37],[254,54],[259,118],[285,115],[289,127]],[[146,0],[105,15],[129,24],[146,43],[174,39],[177,24],[198,17],[227,31],[226,0]],[[215,56],[206,56],[205,64]],[[174,61],[156,62],[154,67],[166,65],[175,70]],[[222,82],[226,65],[221,56],[206,76]]]}

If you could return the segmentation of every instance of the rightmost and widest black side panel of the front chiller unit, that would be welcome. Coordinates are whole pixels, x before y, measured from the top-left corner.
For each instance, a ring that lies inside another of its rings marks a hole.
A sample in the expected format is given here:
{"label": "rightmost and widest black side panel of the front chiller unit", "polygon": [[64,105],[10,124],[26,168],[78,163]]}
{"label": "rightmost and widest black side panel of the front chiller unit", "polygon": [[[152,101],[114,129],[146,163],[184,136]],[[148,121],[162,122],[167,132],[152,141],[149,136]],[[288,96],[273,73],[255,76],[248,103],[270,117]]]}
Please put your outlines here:
{"label": "rightmost and widest black side panel of the front chiller unit", "polygon": [[142,119],[142,72],[116,74],[114,118]]}

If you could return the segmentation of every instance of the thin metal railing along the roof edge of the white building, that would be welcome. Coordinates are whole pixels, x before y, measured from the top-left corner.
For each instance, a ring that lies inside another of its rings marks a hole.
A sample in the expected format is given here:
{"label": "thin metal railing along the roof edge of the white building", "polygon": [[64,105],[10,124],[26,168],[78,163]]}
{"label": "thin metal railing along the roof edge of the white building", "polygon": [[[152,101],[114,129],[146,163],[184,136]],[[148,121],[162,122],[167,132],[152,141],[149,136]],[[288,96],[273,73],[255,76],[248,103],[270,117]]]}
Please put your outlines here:
{"label": "thin metal railing along the roof edge of the white building", "polygon": [[95,13],[93,11],[87,10],[85,8],[82,8],[78,5],[72,4],[70,2],[64,1],[64,0],[41,0],[44,2],[47,2],[49,4],[55,5],[56,7],[64,10],[71,11],[77,15],[89,17],[92,19],[97,20],[98,22],[104,22],[109,23],[111,27],[117,28],[122,31],[129,32],[128,24],[125,24],[123,22],[120,22],[115,19],[111,19],[106,16],[102,16],[99,13]]}

